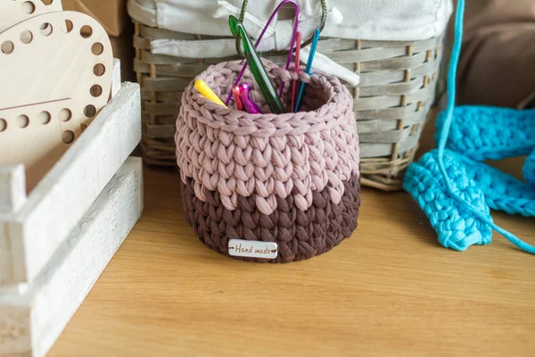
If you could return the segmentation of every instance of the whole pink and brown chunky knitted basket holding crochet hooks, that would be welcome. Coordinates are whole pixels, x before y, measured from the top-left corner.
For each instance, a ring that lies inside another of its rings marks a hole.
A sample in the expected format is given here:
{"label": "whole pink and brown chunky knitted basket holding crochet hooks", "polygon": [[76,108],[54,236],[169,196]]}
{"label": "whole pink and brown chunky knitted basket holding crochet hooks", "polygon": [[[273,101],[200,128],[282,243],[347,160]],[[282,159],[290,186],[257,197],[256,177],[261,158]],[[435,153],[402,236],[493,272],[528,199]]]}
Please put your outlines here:
{"label": "whole pink and brown chunky knitted basket holding crochet hooks", "polygon": [[[296,75],[264,62],[288,106]],[[225,97],[242,62],[210,66],[203,79]],[[269,112],[251,72],[243,80]],[[249,114],[226,109],[185,88],[177,120],[177,162],[188,222],[202,243],[228,254],[230,239],[275,242],[276,259],[325,253],[357,228],[358,134],[353,98],[339,79],[307,76],[302,112]],[[264,259],[245,258],[266,262]]]}

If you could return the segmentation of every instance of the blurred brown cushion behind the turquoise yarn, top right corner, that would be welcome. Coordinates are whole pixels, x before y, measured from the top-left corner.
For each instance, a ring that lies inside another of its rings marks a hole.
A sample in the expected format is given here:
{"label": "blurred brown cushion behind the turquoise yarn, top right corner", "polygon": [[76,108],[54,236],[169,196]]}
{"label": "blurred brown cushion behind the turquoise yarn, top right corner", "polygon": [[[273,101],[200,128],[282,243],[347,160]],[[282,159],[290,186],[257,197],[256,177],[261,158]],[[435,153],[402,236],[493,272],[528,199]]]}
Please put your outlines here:
{"label": "blurred brown cushion behind the turquoise yarn, top right corner", "polygon": [[470,0],[458,73],[459,104],[530,105],[535,95],[535,4]]}

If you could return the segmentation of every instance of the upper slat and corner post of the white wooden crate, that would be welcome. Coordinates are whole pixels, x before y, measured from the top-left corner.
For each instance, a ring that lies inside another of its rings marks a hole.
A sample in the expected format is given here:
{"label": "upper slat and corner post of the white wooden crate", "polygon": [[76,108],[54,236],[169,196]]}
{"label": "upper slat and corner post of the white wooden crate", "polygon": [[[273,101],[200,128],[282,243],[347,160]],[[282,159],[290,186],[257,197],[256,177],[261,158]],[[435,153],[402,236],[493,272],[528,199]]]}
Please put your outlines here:
{"label": "upper slat and corner post of the white wooden crate", "polygon": [[141,140],[139,86],[120,86],[45,178],[26,195],[22,166],[0,166],[0,286],[31,282]]}

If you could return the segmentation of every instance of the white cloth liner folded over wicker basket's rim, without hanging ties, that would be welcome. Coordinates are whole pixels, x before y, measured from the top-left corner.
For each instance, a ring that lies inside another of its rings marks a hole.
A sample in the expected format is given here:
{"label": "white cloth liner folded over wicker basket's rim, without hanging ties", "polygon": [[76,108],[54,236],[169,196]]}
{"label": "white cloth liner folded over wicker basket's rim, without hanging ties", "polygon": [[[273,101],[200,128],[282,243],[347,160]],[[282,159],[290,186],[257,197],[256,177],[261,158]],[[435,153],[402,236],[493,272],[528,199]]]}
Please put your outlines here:
{"label": "white cloth liner folded over wicker basket's rim, without hanging ties", "polygon": [[[257,37],[281,0],[250,0],[245,26]],[[238,16],[243,0],[129,0],[129,12],[146,25],[177,32],[231,36],[228,15]],[[319,0],[298,0],[300,30],[310,37],[321,18]],[[442,34],[451,0],[326,0],[328,21],[322,36],[366,40],[416,41]],[[290,40],[292,21],[275,21],[268,37]],[[276,30],[275,30],[276,28]],[[283,46],[277,48],[282,49]]]}

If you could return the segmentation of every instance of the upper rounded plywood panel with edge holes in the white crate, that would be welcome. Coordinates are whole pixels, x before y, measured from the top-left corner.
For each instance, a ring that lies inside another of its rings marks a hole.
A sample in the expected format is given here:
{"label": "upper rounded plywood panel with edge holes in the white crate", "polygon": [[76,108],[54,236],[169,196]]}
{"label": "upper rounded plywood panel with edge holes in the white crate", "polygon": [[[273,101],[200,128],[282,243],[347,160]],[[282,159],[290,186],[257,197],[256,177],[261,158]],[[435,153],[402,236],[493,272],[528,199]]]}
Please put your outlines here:
{"label": "upper rounded plywood panel with edge holes in the white crate", "polygon": [[[69,27],[66,21],[70,21]],[[12,85],[0,87],[0,109],[67,98],[94,104],[97,112],[107,104],[113,69],[111,42],[91,16],[81,12],[38,14],[0,32],[0,44],[6,41],[12,47],[0,57],[1,74]],[[105,67],[101,76],[95,75],[97,64]],[[93,85],[102,87],[102,95],[91,95]]]}

